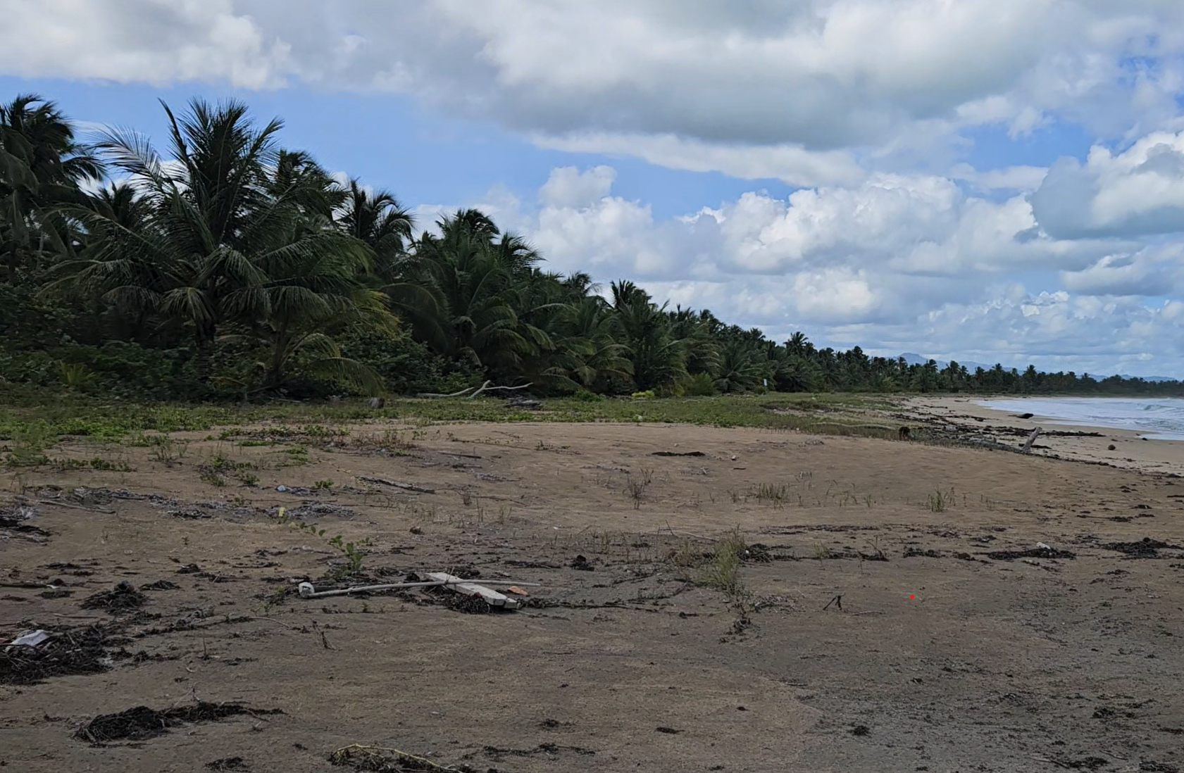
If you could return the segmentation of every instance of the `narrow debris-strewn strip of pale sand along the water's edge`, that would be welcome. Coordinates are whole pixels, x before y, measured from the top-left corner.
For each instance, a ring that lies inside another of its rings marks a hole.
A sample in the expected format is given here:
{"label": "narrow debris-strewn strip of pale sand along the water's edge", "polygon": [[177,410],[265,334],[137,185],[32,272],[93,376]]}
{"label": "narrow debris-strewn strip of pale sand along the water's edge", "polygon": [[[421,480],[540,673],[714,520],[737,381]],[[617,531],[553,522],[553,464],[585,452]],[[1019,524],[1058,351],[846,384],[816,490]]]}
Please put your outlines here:
{"label": "narrow debris-strewn strip of pale sand along the water's edge", "polygon": [[1031,456],[1184,476],[1184,442],[1152,440],[1135,430],[1069,423],[1040,414],[1023,419],[1009,411],[979,405],[986,399],[990,398],[908,397],[896,418],[946,436],[1009,446],[1022,445],[1032,430],[1042,427],[1044,432],[1036,439]]}

